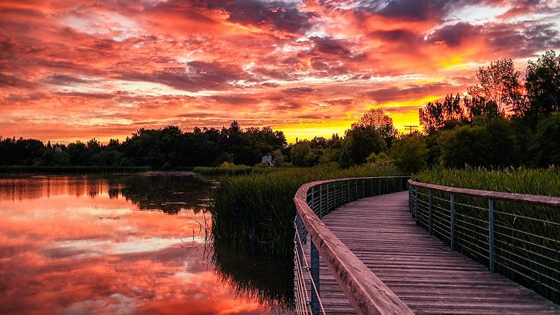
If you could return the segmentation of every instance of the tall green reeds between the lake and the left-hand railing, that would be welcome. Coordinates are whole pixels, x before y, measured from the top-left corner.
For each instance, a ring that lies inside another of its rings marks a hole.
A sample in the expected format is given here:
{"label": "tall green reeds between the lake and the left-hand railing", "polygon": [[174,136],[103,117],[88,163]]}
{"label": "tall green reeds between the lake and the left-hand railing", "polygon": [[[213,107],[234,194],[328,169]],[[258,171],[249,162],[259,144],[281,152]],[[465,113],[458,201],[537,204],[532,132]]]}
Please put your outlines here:
{"label": "tall green reeds between the lake and the left-hand railing", "polygon": [[211,207],[214,236],[270,255],[293,251],[293,197],[304,183],[323,179],[402,175],[395,167],[288,168],[222,176]]}

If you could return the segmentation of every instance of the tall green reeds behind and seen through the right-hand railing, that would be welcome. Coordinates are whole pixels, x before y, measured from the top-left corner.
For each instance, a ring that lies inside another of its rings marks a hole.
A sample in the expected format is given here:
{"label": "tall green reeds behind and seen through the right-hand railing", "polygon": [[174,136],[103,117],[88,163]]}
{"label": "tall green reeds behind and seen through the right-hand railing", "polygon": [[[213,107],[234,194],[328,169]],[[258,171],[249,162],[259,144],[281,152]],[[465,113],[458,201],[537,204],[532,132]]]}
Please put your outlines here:
{"label": "tall green reeds behind and seen through the right-hand railing", "polygon": [[[414,176],[418,181],[458,188],[560,197],[559,169],[436,169]],[[427,190],[419,191],[427,204]],[[449,195],[433,193],[435,235],[449,244]],[[488,200],[456,195],[457,250],[489,265]],[[494,201],[496,271],[560,302],[560,209],[521,202]],[[419,225],[427,229],[426,207]]]}

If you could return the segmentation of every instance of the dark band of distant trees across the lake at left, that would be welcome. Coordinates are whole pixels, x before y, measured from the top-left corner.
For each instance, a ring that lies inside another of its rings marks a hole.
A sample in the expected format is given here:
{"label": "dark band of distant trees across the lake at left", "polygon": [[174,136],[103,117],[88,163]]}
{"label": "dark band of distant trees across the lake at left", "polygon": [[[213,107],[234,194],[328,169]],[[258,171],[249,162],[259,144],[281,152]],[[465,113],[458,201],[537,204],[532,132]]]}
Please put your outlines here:
{"label": "dark band of distant trees across the lake at left", "polygon": [[122,143],[111,139],[101,144],[96,139],[76,141],[68,146],[34,139],[0,138],[0,165],[35,166],[149,166],[172,169],[230,162],[254,165],[263,155],[286,147],[283,132],[270,127],[241,130],[234,120],[230,127],[195,128],[183,132],[167,126],[159,130],[141,129]]}

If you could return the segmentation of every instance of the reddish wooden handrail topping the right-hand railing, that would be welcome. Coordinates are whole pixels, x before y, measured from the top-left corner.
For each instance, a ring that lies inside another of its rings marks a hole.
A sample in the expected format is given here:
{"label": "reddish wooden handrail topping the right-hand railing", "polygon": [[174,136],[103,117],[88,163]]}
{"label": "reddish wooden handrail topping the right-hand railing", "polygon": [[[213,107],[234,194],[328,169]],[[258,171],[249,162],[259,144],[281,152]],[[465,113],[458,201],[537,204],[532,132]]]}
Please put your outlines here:
{"label": "reddish wooden handrail topping the right-hand railing", "polygon": [[423,188],[439,190],[445,193],[455,193],[460,195],[468,195],[472,197],[489,198],[493,200],[525,202],[528,204],[537,204],[540,206],[560,208],[560,197],[526,195],[526,194],[518,194],[518,193],[502,193],[498,191],[477,190],[477,189],[470,189],[470,188],[455,188],[455,187],[441,186],[441,185],[435,185],[430,183],[422,183],[419,181],[413,181],[412,179],[409,179],[408,183],[412,186],[419,186]]}

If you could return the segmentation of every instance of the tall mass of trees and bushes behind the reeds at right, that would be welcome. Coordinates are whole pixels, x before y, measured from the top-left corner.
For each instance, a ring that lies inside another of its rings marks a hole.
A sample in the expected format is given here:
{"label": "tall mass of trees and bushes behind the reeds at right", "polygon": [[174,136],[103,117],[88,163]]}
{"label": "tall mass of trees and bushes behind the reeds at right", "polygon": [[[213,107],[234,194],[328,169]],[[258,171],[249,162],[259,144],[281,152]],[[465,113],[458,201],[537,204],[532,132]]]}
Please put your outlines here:
{"label": "tall mass of trees and bushes behind the reeds at right", "polygon": [[[419,109],[428,154],[419,164],[461,168],[560,165],[560,55],[529,62],[519,82],[511,60],[477,73],[479,84]],[[524,91],[521,87],[524,87]],[[419,140],[421,141],[421,140]]]}

